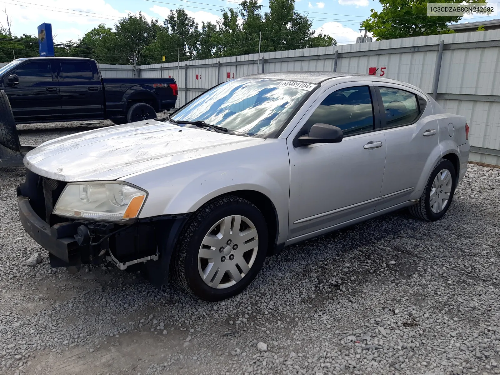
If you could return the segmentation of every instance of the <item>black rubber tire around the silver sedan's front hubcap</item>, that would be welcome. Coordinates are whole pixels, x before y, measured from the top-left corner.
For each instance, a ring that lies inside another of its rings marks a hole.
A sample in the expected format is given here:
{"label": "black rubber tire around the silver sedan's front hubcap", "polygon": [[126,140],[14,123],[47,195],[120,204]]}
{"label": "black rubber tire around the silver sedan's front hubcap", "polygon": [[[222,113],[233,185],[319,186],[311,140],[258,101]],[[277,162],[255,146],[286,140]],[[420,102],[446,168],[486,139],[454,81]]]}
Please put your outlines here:
{"label": "black rubber tire around the silver sedan's front hubcap", "polygon": [[[258,250],[249,271],[238,282],[225,288],[213,288],[203,281],[198,272],[198,251],[210,228],[229,215],[242,215],[251,220],[257,231]],[[232,195],[215,198],[199,208],[186,222],[172,259],[173,278],[184,291],[206,301],[232,297],[246,288],[262,267],[267,239],[264,216],[252,203]]]}

